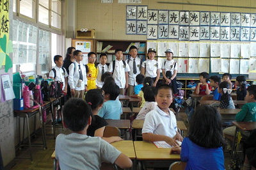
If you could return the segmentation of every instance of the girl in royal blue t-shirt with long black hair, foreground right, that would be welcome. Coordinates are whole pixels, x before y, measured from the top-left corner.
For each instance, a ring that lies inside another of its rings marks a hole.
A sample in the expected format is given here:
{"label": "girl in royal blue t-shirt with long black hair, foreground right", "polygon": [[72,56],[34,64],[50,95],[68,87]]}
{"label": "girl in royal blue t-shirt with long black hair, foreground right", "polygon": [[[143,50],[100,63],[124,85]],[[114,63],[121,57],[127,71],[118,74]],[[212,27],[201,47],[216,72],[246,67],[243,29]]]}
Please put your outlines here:
{"label": "girl in royal blue t-shirt with long black hair, foreground right", "polygon": [[217,109],[208,105],[196,108],[193,114],[188,137],[181,148],[175,146],[172,153],[180,153],[186,169],[225,169],[222,145],[221,116]]}

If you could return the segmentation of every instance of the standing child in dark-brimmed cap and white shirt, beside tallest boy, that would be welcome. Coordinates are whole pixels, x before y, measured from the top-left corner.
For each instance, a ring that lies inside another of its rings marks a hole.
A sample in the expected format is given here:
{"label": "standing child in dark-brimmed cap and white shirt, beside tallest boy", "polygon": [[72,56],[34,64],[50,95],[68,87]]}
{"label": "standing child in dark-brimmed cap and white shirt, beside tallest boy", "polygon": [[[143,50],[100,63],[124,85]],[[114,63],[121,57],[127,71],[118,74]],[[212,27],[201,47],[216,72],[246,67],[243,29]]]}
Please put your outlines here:
{"label": "standing child in dark-brimmed cap and white shirt, beside tallest boy", "polygon": [[142,63],[141,73],[145,77],[151,77],[153,79],[153,87],[156,87],[157,81],[160,77],[160,67],[155,58],[156,50],[148,49],[148,59]]}

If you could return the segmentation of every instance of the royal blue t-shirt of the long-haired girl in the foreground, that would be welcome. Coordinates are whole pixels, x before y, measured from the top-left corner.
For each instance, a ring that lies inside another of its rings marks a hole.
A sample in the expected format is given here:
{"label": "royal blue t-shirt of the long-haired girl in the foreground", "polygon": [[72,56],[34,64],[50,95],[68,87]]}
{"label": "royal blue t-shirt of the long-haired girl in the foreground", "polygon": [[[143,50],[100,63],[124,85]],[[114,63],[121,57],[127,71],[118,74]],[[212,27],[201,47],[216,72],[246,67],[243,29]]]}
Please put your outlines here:
{"label": "royal blue t-shirt of the long-haired girl in the foreground", "polygon": [[225,169],[222,147],[204,148],[185,137],[181,144],[180,159],[186,169]]}

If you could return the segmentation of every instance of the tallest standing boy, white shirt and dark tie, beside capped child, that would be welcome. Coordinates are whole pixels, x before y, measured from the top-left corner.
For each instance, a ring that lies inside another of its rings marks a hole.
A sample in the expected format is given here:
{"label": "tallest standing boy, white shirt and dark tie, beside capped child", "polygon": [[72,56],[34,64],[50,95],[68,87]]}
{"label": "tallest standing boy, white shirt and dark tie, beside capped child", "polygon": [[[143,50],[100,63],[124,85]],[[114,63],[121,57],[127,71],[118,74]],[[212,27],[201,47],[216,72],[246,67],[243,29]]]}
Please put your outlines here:
{"label": "tallest standing boy, white shirt and dark tie, beside capped child", "polygon": [[134,45],[130,47],[129,54],[129,58],[126,59],[126,63],[130,67],[130,72],[128,72],[127,95],[131,97],[133,95],[134,86],[137,86],[136,76],[140,73],[142,60],[138,58],[138,49]]}

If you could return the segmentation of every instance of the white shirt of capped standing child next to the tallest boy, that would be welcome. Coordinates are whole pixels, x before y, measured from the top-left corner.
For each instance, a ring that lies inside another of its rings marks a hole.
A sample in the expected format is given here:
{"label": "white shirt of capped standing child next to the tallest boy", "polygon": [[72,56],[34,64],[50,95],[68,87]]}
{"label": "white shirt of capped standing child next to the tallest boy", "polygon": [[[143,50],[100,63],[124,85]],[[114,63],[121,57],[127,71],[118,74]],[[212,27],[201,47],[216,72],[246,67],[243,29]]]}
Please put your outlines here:
{"label": "white shirt of capped standing child next to the tallest boy", "polygon": [[157,70],[160,69],[157,61],[155,59],[147,59],[142,63],[142,67],[145,68],[145,63],[146,63],[146,72],[145,75],[146,77],[151,77],[154,78],[157,76]]}

